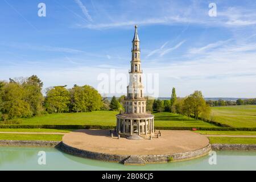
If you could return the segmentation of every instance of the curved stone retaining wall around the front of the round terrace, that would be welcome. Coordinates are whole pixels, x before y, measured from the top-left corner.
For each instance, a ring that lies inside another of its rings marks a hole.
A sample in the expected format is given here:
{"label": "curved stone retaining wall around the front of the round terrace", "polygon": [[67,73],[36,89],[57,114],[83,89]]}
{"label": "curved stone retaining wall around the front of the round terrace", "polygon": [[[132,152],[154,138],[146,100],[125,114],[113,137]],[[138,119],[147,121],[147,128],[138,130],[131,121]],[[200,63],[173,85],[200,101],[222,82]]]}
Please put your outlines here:
{"label": "curved stone retaining wall around the front of the round terrace", "polygon": [[138,158],[142,159],[144,161],[144,163],[166,163],[166,162],[171,162],[171,161],[198,158],[200,156],[207,155],[212,150],[210,144],[208,144],[208,146],[206,146],[204,148],[200,148],[199,150],[181,152],[181,153],[176,153],[176,154],[118,155],[118,154],[104,154],[104,153],[100,153],[100,152],[81,150],[78,148],[68,146],[67,144],[65,144],[63,142],[60,142],[56,147],[59,150],[66,152],[67,154],[80,156],[82,158],[97,159],[97,160],[104,160],[104,161],[108,161],[108,162],[117,162],[117,163],[125,163],[125,160],[129,159],[131,156],[138,157]]}

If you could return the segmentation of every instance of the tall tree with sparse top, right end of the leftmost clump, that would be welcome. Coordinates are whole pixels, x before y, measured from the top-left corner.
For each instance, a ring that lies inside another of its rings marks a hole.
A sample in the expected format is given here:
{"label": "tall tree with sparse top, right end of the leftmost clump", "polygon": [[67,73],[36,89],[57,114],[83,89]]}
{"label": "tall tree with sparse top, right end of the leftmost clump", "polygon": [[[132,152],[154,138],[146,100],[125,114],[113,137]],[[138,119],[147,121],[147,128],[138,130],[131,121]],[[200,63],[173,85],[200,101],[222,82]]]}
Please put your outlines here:
{"label": "tall tree with sparse top, right end of the leftmost clump", "polygon": [[22,83],[25,91],[25,100],[30,105],[33,115],[40,115],[43,112],[44,97],[42,94],[43,82],[36,76],[28,77]]}

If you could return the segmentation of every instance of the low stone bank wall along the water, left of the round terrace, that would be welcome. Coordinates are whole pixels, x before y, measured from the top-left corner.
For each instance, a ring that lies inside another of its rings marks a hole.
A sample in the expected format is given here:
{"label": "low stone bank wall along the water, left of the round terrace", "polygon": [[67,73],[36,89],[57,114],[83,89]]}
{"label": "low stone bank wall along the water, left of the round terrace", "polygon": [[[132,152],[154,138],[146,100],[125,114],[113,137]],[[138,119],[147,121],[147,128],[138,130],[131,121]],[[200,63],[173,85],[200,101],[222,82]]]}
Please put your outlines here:
{"label": "low stone bank wall along the water, left of the round terrace", "polygon": [[0,140],[0,146],[55,147],[60,141],[43,140]]}

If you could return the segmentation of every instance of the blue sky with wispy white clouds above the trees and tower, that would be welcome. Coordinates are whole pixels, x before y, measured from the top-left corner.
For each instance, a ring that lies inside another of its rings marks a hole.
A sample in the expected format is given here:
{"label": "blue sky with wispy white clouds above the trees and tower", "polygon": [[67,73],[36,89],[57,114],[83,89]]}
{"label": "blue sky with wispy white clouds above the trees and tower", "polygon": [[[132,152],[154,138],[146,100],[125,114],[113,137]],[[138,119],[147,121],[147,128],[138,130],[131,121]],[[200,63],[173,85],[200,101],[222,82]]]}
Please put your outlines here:
{"label": "blue sky with wispy white clouds above the trees and tower", "polygon": [[172,87],[181,97],[256,97],[255,10],[255,1],[3,0],[0,80],[38,75],[44,88],[97,89],[101,73],[128,74],[138,24],[142,68],[159,75],[160,97]]}

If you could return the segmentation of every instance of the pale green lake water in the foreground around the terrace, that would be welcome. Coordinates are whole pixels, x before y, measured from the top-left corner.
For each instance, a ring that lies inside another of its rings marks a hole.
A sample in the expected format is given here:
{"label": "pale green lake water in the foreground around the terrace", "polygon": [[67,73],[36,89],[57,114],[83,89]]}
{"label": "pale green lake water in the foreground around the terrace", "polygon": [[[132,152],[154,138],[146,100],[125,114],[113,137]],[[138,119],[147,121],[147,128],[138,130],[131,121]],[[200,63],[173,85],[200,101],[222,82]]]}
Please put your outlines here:
{"label": "pale green lake water in the foreground around the terrace", "polygon": [[[46,152],[46,165],[38,164],[38,152]],[[256,170],[256,151],[217,151],[217,164],[210,156],[182,162],[124,166],[65,154],[56,148],[0,147],[0,170]]]}

